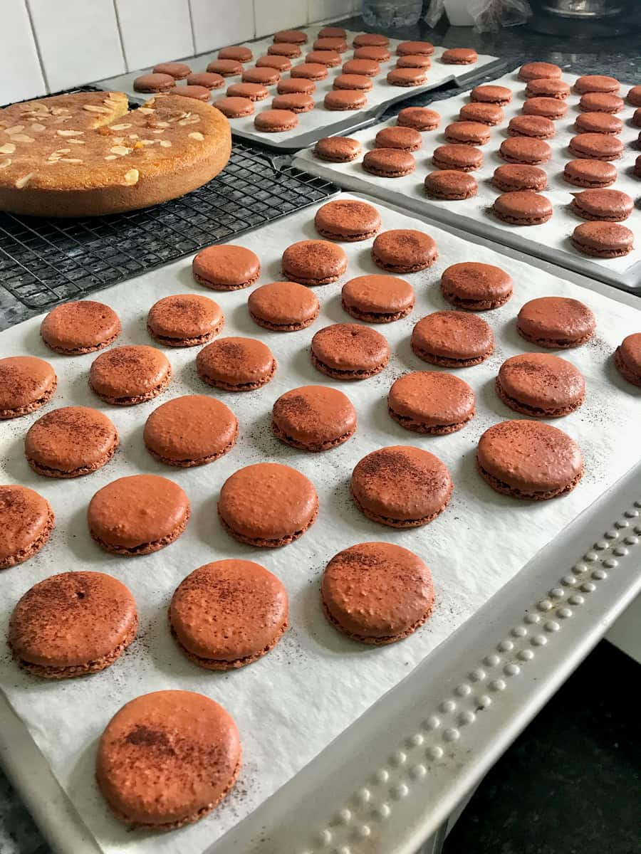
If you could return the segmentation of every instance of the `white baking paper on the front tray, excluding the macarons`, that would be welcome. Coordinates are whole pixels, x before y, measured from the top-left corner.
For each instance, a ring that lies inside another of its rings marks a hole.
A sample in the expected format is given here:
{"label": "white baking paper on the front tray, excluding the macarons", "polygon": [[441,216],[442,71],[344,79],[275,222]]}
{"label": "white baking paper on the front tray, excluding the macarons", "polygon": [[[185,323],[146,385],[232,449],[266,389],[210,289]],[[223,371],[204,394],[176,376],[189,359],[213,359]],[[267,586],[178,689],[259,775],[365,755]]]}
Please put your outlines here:
{"label": "white baking paper on the front tray, excluding the macarons", "polygon": [[[131,588],[138,602],[138,640],[100,674],[49,682],[26,676],[8,655],[0,659],[0,684],[10,703],[26,722],[79,815],[109,854],[202,852],[407,676],[638,459],[641,390],[619,376],[612,353],[624,335],[641,330],[641,312],[383,205],[379,210],[385,229],[419,228],[432,234],[439,258],[429,270],[408,277],[416,291],[414,313],[377,327],[391,344],[390,364],[377,377],[363,382],[340,383],[315,371],[309,361],[309,342],[324,325],[353,322],[340,307],[340,289],[348,278],[379,272],[370,259],[371,241],[343,244],[349,256],[348,272],[340,282],[316,290],[321,316],[307,330],[284,334],[256,326],[247,313],[248,290],[210,293],[225,312],[223,335],[255,336],[273,349],[278,360],[276,375],[255,392],[234,395],[210,389],[194,370],[196,348],[167,348],[174,371],[168,390],[137,407],[109,407],[87,387],[94,357],[51,353],[39,339],[38,318],[0,334],[0,356],[36,354],[55,366],[58,390],[45,412],[70,404],[97,407],[108,412],[121,432],[121,447],[108,465],[70,482],[38,477],[26,465],[23,439],[38,413],[0,424],[2,481],[37,489],[56,512],[56,529],[46,547],[28,563],[0,575],[2,630],[26,589],[63,570],[111,573]],[[317,237],[313,215],[314,209],[307,209],[242,238],[240,243],[254,249],[262,260],[259,284],[281,278],[279,260],[286,246]],[[438,370],[412,354],[409,334],[420,317],[446,307],[438,290],[440,274],[462,260],[502,266],[514,278],[515,295],[502,308],[485,313],[497,339],[491,359],[457,371],[474,389],[476,417],[450,436],[420,436],[389,418],[385,398],[392,381],[404,372]],[[180,260],[103,293],[103,301],[122,319],[119,344],[150,343],[145,317],[160,297],[209,293],[192,281],[190,262],[189,258]],[[597,315],[597,335],[584,347],[563,354],[585,374],[587,397],[578,412],[555,422],[582,447],[585,477],[562,499],[530,503],[493,492],[475,471],[474,450],[491,424],[519,417],[497,399],[494,377],[504,359],[530,347],[515,331],[515,315],[523,302],[543,295],[572,295],[587,302]],[[356,436],[327,453],[296,451],[277,442],[270,430],[273,401],[285,390],[306,383],[343,389],[356,406]],[[220,396],[232,407],[240,424],[236,447],[215,463],[199,468],[181,470],[156,463],[143,447],[145,418],[162,401],[192,393]],[[350,500],[350,472],[356,462],[375,448],[393,444],[429,449],[450,467],[455,483],[450,506],[424,528],[399,531],[375,524]],[[216,501],[226,477],[243,465],[264,459],[303,471],[315,483],[321,500],[315,525],[297,542],[276,550],[240,545],[226,535],[216,518]],[[86,506],[105,483],[137,472],[161,474],[185,488],[191,499],[191,521],[185,534],[162,551],[119,559],[91,540]],[[433,616],[422,629],[402,643],[382,648],[362,646],[339,635],[326,622],[319,597],[321,572],[332,555],[357,542],[376,540],[396,542],[420,554],[432,569],[437,596]],[[223,674],[201,670],[179,652],[168,631],[167,607],[174,588],[191,570],[230,557],[256,560],[282,579],[290,596],[291,629],[256,664]],[[109,718],[126,701],[164,688],[198,691],[221,702],[238,722],[244,767],[231,796],[202,822],[171,834],[131,833],[110,816],[97,792],[93,776],[96,742]]]}

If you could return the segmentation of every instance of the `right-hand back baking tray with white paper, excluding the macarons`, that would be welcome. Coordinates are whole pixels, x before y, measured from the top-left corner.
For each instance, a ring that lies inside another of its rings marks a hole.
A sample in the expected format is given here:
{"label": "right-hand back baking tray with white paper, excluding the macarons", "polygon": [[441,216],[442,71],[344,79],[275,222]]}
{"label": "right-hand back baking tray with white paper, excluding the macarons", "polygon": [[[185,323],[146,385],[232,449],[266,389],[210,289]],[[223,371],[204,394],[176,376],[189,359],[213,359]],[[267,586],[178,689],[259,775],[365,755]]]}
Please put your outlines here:
{"label": "right-hand back baking tray with white paper, excluding the macarons", "polygon": [[[564,73],[563,79],[573,84],[576,75]],[[460,202],[440,202],[428,198],[423,187],[426,174],[435,168],[432,165],[432,151],[438,145],[445,144],[444,128],[451,121],[457,120],[460,108],[469,101],[468,92],[432,105],[441,115],[441,124],[438,131],[423,134],[423,147],[415,152],[415,172],[403,178],[377,178],[370,175],[362,168],[362,158],[351,163],[326,163],[318,160],[311,149],[301,151],[294,162],[297,167],[331,179],[350,190],[372,193],[418,213],[426,213],[440,222],[455,225],[481,237],[489,237],[497,243],[519,249],[527,254],[551,260],[567,269],[582,272],[586,276],[614,284],[623,290],[630,290],[633,293],[641,292],[641,208],[638,205],[641,179],[636,178],[632,173],[634,160],[639,153],[636,146],[639,129],[632,126],[631,122],[634,107],[626,102],[625,108],[619,114],[624,120],[620,139],[625,144],[625,149],[621,159],[614,161],[619,177],[613,184],[613,189],[624,190],[636,201],[632,215],[625,222],[625,225],[635,234],[636,248],[625,258],[609,260],[589,258],[574,249],[569,240],[574,227],[585,222],[568,207],[572,201],[572,193],[579,192],[581,188],[567,184],[561,176],[565,162],[573,159],[573,155],[567,150],[567,143],[578,133],[573,127],[573,121],[579,114],[580,96],[572,91],[567,98],[566,118],[555,122],[556,136],[546,140],[552,149],[552,157],[543,167],[548,173],[549,188],[544,191],[544,195],[548,196],[554,205],[552,218],[544,225],[526,227],[508,225],[498,220],[489,209],[499,195],[499,191],[491,185],[491,176],[496,167],[505,164],[503,158],[498,155],[498,147],[508,136],[509,119],[520,114],[525,100],[525,83],[517,78],[515,71],[492,82],[509,87],[515,92],[515,97],[507,107],[503,108],[505,112],[503,124],[491,128],[490,143],[480,146],[484,154],[484,165],[477,172],[472,173],[478,181],[479,192],[471,199]],[[626,93],[627,88],[627,84],[621,84],[623,94]],[[370,127],[367,131],[358,132],[354,136],[362,142],[363,152],[365,152],[373,148],[374,137],[380,128],[393,125],[396,125],[396,118]]]}

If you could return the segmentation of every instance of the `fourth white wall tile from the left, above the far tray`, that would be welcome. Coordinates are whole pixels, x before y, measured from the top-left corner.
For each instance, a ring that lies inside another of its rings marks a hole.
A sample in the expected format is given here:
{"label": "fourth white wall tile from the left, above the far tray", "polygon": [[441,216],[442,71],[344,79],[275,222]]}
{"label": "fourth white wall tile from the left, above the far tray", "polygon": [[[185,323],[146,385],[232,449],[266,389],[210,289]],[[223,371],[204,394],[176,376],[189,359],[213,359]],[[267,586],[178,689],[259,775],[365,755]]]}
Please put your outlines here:
{"label": "fourth white wall tile from the left, above the far tray", "polygon": [[253,0],[189,0],[189,3],[197,53],[254,38]]}

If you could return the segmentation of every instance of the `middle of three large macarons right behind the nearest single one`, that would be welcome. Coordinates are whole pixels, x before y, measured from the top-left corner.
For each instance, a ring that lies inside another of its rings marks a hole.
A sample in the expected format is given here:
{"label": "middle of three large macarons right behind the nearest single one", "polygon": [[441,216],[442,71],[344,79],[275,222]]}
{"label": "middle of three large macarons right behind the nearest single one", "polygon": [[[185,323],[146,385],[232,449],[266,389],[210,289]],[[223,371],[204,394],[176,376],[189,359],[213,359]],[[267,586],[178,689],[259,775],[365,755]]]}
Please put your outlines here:
{"label": "middle of three large macarons right behind the nearest single one", "polygon": [[283,583],[251,560],[215,560],[175,589],[169,626],[180,652],[205,670],[236,670],[273,649],[287,629]]}

